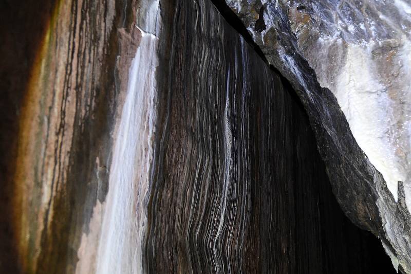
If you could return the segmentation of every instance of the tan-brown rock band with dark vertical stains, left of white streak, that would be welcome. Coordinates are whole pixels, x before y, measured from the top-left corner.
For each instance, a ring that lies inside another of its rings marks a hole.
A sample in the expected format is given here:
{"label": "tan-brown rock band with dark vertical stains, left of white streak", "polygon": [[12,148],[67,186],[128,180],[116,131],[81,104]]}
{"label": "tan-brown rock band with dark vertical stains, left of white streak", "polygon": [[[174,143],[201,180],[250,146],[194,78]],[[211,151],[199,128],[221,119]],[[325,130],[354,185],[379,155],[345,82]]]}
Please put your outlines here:
{"label": "tan-brown rock band with dark vertical stains, left of white streak", "polygon": [[130,3],[51,5],[14,136],[10,207],[23,272],[73,272],[93,207],[105,199],[111,133],[139,41],[126,21]]}

